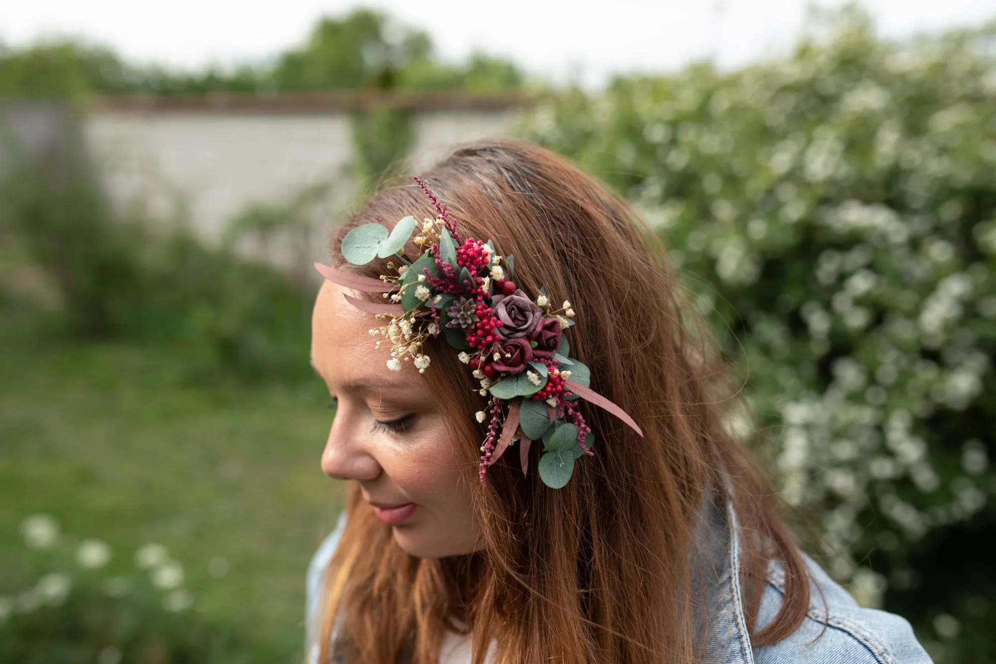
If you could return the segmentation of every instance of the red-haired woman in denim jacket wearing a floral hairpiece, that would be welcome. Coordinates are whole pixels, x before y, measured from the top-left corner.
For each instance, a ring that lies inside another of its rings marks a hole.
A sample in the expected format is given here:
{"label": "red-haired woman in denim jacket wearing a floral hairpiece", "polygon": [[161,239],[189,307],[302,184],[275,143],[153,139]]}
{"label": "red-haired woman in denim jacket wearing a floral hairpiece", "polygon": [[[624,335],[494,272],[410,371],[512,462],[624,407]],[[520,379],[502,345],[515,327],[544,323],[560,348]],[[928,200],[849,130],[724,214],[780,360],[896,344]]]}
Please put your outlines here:
{"label": "red-haired woman in denim jacket wearing a floral hairpiece", "polygon": [[314,660],[929,661],[796,548],[705,326],[593,179],[471,145],[333,247],[312,361],[322,468],[351,482],[310,569]]}

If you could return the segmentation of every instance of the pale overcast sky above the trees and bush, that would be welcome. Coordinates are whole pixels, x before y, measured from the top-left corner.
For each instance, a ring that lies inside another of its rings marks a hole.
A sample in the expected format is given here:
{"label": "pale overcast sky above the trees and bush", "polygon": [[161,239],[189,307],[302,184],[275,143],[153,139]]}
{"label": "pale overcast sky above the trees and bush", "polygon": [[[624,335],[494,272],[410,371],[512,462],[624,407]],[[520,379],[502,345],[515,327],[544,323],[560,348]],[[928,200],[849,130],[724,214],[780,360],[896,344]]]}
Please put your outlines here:
{"label": "pale overcast sky above the trees and bush", "polygon": [[[77,35],[129,59],[193,68],[258,61],[300,43],[322,14],[359,5],[428,30],[440,53],[473,49],[528,71],[598,83],[614,72],[668,71],[713,57],[739,65],[786,50],[807,0],[6,0],[0,40]],[[840,0],[825,0],[837,6]],[[903,36],[996,18],[993,0],[866,0],[879,32]]]}

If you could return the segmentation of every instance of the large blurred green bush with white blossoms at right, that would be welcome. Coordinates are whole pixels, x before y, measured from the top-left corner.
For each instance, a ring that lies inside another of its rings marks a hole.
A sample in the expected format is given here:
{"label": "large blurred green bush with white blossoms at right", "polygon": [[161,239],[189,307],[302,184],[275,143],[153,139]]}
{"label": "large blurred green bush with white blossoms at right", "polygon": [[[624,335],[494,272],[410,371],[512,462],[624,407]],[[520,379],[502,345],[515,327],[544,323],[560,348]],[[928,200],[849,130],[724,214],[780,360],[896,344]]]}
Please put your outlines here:
{"label": "large blurred green bush with white blossoms at right", "polygon": [[994,47],[850,10],[789,57],[621,78],[523,130],[658,230],[832,573],[949,662],[996,658]]}

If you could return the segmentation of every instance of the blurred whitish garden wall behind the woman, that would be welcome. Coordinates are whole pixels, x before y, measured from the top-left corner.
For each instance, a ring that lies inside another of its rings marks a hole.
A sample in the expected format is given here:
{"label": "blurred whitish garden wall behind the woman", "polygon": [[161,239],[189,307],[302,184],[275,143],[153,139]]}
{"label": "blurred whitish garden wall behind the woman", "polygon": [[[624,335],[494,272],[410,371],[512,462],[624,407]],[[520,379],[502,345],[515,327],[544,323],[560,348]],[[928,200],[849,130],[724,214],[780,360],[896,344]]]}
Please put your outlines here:
{"label": "blurred whitish garden wall behind the woman", "polygon": [[[511,109],[416,112],[411,164],[417,172],[453,144],[505,136],[514,118]],[[247,206],[280,203],[317,182],[336,182],[333,205],[348,207],[355,200],[351,131],[346,112],[98,110],[85,127],[118,203],[178,216],[208,240]]]}

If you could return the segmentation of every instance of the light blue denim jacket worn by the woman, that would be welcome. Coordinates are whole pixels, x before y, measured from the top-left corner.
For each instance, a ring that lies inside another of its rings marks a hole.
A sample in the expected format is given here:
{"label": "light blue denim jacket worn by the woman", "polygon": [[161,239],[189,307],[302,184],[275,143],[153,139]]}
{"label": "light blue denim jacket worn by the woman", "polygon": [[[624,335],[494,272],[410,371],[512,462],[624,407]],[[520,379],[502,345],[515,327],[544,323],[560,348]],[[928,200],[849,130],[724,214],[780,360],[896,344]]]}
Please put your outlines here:
{"label": "light blue denim jacket worn by the woman", "polygon": [[[715,664],[923,664],[930,657],[917,643],[903,618],[885,611],[862,608],[809,556],[804,555],[811,580],[810,606],[802,625],[787,638],[755,648],[747,633],[740,588],[740,550],[729,532],[738,528],[736,514],[727,506],[725,518],[710,518],[710,546],[716,565],[717,582],[710,598],[707,662]],[[343,528],[340,515],[335,530],[322,542],[308,567],[306,600],[307,650],[310,664],[317,664],[319,597],[322,575],[332,557]],[[768,566],[758,626],[768,624],[782,604],[785,571],[781,563]],[[822,596],[821,596],[822,593]]]}

